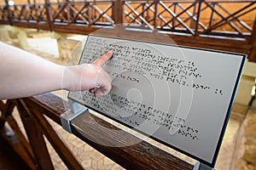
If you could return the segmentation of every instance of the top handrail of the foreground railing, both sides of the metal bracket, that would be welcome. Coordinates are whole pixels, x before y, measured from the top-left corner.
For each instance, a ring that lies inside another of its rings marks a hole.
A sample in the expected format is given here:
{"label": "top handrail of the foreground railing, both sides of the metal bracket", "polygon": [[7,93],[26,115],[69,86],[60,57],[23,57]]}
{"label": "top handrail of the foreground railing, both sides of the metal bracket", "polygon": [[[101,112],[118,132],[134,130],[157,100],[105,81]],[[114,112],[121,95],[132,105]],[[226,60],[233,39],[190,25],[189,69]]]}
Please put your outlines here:
{"label": "top handrail of the foreground railing, both sides of the metal bracket", "polygon": [[[41,94],[22,99],[22,101],[26,102],[30,111],[37,112],[37,114],[34,114],[35,116],[42,116],[38,113],[40,112],[50,117],[59,117],[61,113],[67,110],[67,108],[64,107],[64,105],[67,105],[67,102],[54,94]],[[97,123],[91,122],[91,119]],[[60,123],[60,121],[57,122]],[[38,123],[41,124],[43,122],[38,121]],[[127,169],[193,169],[193,165],[188,161],[183,161],[183,159],[173,156],[171,153],[160,149],[154,144],[142,141],[131,133],[119,127],[115,127],[113,124],[89,112],[74,119],[72,129],[74,135]],[[119,134],[110,133],[110,129],[118,130]],[[106,136],[108,136],[108,138],[106,138]],[[96,141],[101,143],[97,143]],[[113,147],[113,144],[120,144],[122,142],[130,142],[133,145]],[[102,144],[112,144],[112,146]]]}

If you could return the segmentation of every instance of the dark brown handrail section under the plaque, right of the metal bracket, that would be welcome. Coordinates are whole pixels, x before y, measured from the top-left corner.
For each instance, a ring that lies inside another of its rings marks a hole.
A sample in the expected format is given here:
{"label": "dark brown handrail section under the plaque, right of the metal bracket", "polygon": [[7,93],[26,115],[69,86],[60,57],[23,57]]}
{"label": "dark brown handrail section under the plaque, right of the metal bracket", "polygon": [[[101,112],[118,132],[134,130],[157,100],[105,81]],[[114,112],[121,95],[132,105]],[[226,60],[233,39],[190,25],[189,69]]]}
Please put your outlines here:
{"label": "dark brown handrail section under the plaque, right of the metal bracket", "polygon": [[[73,120],[72,131],[80,139],[125,169],[193,169],[193,165],[189,162],[183,161],[89,112]],[[119,144],[127,145],[119,147]]]}

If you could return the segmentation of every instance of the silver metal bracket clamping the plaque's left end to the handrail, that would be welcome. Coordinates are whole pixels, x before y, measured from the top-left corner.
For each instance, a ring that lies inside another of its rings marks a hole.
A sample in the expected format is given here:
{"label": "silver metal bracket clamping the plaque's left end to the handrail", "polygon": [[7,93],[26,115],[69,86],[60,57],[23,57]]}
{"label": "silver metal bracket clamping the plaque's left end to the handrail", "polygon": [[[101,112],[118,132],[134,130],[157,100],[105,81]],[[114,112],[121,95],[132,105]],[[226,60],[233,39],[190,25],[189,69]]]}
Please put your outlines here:
{"label": "silver metal bracket clamping the plaque's left end to the handrail", "polygon": [[61,125],[67,132],[72,133],[71,122],[74,118],[87,111],[88,108],[84,107],[84,105],[80,105],[73,99],[68,99],[68,103],[71,109],[61,114]]}

